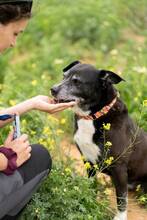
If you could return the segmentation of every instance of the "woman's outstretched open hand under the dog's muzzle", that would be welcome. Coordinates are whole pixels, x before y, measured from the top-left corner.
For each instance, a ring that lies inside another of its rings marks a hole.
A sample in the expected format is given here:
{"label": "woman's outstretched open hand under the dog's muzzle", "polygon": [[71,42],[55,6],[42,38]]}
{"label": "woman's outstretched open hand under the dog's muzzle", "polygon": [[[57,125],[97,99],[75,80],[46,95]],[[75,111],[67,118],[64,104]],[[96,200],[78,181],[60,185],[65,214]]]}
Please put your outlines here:
{"label": "woman's outstretched open hand under the dog's muzzle", "polygon": [[38,95],[31,99],[33,109],[54,114],[76,105],[76,102],[54,103],[48,96]]}

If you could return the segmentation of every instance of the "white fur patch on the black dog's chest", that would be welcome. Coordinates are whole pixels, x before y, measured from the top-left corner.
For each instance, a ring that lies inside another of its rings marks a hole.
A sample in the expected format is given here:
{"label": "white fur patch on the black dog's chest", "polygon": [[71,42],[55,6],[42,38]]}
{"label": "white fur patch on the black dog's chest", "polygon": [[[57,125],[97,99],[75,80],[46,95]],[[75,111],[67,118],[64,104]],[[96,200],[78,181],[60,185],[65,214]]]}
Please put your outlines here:
{"label": "white fur patch on the black dog's chest", "polygon": [[74,140],[78,144],[85,159],[96,163],[100,155],[99,147],[93,142],[95,128],[92,120],[78,120],[78,130],[75,133]]}

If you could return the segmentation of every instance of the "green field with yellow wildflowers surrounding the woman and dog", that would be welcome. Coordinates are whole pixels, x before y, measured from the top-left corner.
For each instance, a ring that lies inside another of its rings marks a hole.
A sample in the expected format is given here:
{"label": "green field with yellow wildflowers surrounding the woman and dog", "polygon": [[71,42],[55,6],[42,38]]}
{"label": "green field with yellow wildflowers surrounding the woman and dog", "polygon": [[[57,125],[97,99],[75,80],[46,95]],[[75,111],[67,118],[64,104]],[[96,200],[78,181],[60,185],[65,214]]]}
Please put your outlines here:
{"label": "green field with yellow wildflowers surrounding the woman and dog", "polygon": [[[131,117],[147,131],[147,1],[34,1],[33,17],[15,49],[0,58],[0,108],[39,94],[50,95],[62,69],[74,60],[108,69],[125,79],[117,89]],[[106,186],[81,177],[74,161],[64,160],[61,143],[72,143],[73,114],[30,112],[21,117],[31,143],[51,152],[53,170],[24,210],[21,219],[109,220]],[[0,142],[10,127],[1,130]],[[147,195],[137,188],[137,200]],[[98,199],[97,199],[98,198]]]}

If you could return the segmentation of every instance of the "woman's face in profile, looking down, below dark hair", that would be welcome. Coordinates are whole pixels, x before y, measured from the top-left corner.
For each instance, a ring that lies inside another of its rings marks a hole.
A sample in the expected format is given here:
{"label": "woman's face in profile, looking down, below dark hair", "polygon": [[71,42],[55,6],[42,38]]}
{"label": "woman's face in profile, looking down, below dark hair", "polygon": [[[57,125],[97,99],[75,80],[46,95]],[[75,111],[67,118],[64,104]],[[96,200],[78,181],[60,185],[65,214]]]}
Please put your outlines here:
{"label": "woman's face in profile, looking down, below dark hair", "polygon": [[0,24],[0,53],[15,46],[18,35],[24,31],[28,21],[21,19],[6,25]]}

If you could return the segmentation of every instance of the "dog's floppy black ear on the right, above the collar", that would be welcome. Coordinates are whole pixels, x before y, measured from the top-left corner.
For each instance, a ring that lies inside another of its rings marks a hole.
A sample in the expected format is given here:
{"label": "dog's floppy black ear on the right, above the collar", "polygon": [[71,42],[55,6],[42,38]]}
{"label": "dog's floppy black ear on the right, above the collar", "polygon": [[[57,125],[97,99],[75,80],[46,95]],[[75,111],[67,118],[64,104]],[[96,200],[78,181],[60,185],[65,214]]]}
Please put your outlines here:
{"label": "dog's floppy black ear on the right, above the collar", "polygon": [[112,84],[118,84],[121,81],[125,81],[116,73],[109,71],[109,70],[100,70],[100,78],[104,81],[109,81]]}

